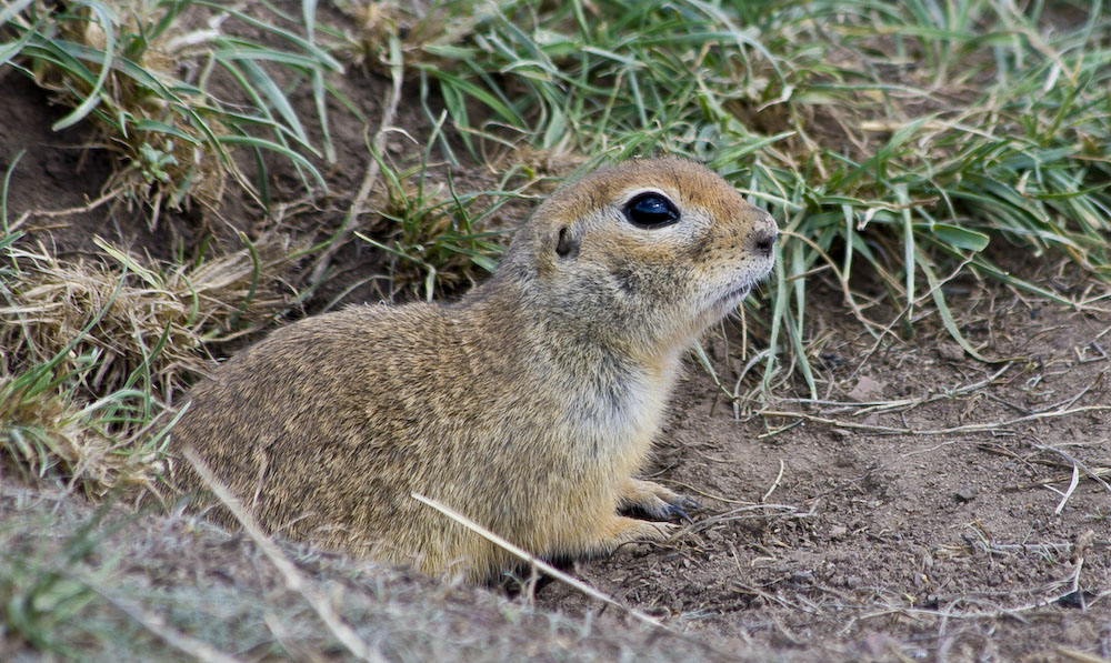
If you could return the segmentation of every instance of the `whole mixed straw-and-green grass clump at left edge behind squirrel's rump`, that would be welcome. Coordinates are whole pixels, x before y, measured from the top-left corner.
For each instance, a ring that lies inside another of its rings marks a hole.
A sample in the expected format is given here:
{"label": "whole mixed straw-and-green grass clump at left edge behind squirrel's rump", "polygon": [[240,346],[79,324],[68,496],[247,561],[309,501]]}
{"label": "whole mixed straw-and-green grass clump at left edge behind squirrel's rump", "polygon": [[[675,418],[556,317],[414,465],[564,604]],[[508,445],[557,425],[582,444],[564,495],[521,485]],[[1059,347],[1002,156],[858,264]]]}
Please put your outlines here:
{"label": "whole mixed straw-and-green grass clump at left edge behind squirrel's rump", "polygon": [[153,485],[157,426],[202,373],[208,343],[250,333],[297,301],[277,235],[161,269],[102,240],[103,261],[10,251],[0,307],[0,448],[17,466],[103,493]]}

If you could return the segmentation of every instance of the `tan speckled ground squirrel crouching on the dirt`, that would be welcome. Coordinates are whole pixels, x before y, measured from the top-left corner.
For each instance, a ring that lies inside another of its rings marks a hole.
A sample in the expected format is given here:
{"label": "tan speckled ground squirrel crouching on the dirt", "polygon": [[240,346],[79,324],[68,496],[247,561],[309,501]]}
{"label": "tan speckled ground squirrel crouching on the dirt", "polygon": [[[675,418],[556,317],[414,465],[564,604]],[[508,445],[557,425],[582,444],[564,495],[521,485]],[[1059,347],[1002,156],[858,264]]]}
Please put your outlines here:
{"label": "tan speckled ground squirrel crouching on the dirt", "polygon": [[[777,228],[707,168],[633,160],[567,184],[449,304],[280,329],[196,385],[172,430],[271,532],[489,579],[660,541],[684,498],[634,479],[682,355],[772,268]],[[192,472],[179,472],[199,485]]]}

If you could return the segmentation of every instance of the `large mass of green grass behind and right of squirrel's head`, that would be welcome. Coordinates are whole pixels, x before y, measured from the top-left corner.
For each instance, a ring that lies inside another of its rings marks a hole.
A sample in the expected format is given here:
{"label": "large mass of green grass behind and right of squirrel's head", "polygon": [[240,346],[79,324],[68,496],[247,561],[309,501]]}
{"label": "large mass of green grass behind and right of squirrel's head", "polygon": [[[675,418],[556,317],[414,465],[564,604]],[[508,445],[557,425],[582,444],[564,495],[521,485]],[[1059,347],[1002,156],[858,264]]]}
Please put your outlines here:
{"label": "large mass of green grass behind and right of squirrel's head", "polygon": [[790,356],[813,390],[813,278],[879,335],[900,318],[911,333],[931,302],[947,315],[958,275],[1051,295],[989,244],[1111,272],[1111,16],[1097,4],[1051,24],[1043,10],[503,1],[476,14],[452,60],[418,67],[463,137],[595,160],[682,154],[770,209],[785,241],[771,319],[753,315],[772,346],[765,384]]}

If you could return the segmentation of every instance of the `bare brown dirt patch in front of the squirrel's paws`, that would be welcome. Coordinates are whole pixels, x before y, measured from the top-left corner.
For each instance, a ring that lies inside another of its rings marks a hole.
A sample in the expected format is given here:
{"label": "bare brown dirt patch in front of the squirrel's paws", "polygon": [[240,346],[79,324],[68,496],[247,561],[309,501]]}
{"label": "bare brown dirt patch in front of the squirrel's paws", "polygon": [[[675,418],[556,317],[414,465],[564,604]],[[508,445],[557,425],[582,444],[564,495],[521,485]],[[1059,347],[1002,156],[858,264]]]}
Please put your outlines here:
{"label": "bare brown dirt patch in front of the squirrel's paws", "polygon": [[[685,631],[804,660],[1107,659],[1111,489],[1090,479],[1111,464],[1111,317],[974,299],[987,353],[1027,359],[971,361],[939,333],[861,361],[871,338],[833,312],[827,400],[767,408],[793,416],[734,420],[692,370],[660,479],[705,510],[671,550],[578,572]],[[541,604],[584,609],[563,587]]]}

